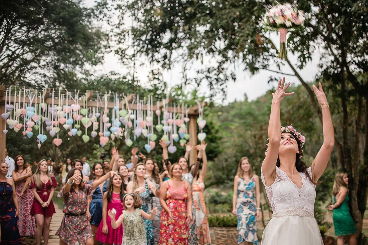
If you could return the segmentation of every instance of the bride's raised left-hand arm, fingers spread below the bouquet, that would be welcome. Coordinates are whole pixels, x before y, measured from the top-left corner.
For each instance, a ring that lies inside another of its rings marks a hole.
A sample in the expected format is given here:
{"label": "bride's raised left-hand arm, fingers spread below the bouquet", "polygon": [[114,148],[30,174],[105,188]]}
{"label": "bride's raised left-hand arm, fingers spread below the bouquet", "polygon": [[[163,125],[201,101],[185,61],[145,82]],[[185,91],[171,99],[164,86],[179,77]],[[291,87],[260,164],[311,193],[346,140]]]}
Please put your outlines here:
{"label": "bride's raised left-hand arm, fingers spread below the bouquet", "polygon": [[262,163],[262,173],[265,176],[266,185],[272,184],[275,180],[276,161],[279,155],[279,147],[281,141],[281,122],[280,122],[280,104],[284,96],[288,96],[292,93],[286,93],[286,89],[290,86],[290,83],[285,84],[285,78],[279,80],[277,89],[273,93],[270,121],[268,123],[268,151],[265,159]]}

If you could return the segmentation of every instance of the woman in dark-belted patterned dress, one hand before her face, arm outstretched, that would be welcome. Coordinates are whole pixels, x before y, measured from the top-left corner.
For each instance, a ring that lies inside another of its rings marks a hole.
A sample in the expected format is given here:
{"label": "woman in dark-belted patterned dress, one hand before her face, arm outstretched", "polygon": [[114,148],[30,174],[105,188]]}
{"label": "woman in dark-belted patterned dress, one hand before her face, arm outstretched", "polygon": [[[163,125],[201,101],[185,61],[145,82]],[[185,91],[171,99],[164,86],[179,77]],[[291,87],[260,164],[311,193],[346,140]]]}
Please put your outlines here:
{"label": "woman in dark-belted patterned dress, one hand before her face, arm outstretched", "polygon": [[95,180],[91,184],[84,184],[81,170],[73,168],[68,172],[66,185],[61,188],[57,195],[59,198],[64,198],[64,217],[56,231],[56,235],[60,237],[60,245],[74,245],[75,242],[93,245],[91,224],[86,215],[87,196],[113,175],[116,175],[116,172],[110,171],[99,180]]}

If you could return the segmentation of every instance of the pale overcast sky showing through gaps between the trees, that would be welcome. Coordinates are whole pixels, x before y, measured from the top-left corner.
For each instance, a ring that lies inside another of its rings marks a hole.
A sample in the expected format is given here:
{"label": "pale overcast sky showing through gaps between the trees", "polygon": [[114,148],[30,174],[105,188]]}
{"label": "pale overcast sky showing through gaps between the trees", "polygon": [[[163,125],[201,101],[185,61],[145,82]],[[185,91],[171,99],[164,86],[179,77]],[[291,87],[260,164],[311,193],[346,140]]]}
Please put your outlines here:
{"label": "pale overcast sky showing through gaps between the trees", "polygon": [[[91,6],[94,3],[95,0],[85,0],[85,3],[87,6]],[[279,44],[278,36],[275,33],[272,33],[271,38],[274,40],[275,44]],[[293,57],[291,53],[288,54],[289,59],[292,61],[291,63],[295,64],[296,57]],[[298,71],[302,78],[305,81],[313,81],[315,79],[315,76],[318,72],[318,66],[317,62],[319,60],[319,54],[316,53],[312,59],[312,62],[309,62],[304,69],[301,71]],[[293,62],[294,61],[294,62]],[[210,59],[204,59],[203,60],[203,66],[209,65],[213,62]],[[201,65],[200,63],[198,65]],[[183,79],[181,77],[181,66],[182,64],[176,64],[173,66],[169,71],[163,71],[163,78],[164,81],[166,81],[169,84],[169,87],[174,86],[175,84],[183,82]],[[196,64],[197,67],[197,64]],[[273,77],[281,77],[282,75],[262,70],[256,75],[251,75],[250,72],[244,71],[244,66],[241,64],[238,64],[236,67],[236,82],[229,82],[227,84],[227,96],[225,103],[232,102],[234,100],[244,100],[244,94],[247,95],[248,100],[254,100],[257,97],[261,96],[265,93],[265,91],[271,89],[272,87],[275,87],[275,83],[268,84],[269,76]],[[198,67],[197,67],[198,68]],[[270,67],[272,70],[277,70],[276,66]],[[110,71],[122,71],[125,70],[123,65],[118,60],[118,57],[114,55],[113,53],[107,53],[105,54],[105,62],[101,65],[96,67],[96,72],[99,74],[108,73]],[[142,85],[144,86],[145,83],[147,83],[148,78],[148,71],[150,70],[150,67],[136,67],[137,75],[139,80],[141,80]],[[282,66],[280,68],[281,72],[284,73],[293,73],[288,65]],[[188,76],[195,76],[195,71],[189,71]],[[286,76],[286,80],[290,81],[291,83],[299,84],[300,82],[295,76]],[[208,88],[206,84],[202,84],[199,90],[206,94],[208,92]],[[221,102],[221,98],[217,98],[217,102]]]}

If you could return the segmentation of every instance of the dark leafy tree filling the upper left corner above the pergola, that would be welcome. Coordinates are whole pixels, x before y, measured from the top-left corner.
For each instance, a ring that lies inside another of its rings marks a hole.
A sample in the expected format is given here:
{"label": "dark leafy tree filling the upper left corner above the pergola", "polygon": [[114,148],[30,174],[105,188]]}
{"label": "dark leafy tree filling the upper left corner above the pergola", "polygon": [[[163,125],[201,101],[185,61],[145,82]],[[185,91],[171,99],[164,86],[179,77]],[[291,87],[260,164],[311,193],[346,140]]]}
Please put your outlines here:
{"label": "dark leafy tree filling the upper left corner above the pergola", "polygon": [[0,83],[78,87],[77,73],[103,59],[107,35],[81,0],[0,3]]}

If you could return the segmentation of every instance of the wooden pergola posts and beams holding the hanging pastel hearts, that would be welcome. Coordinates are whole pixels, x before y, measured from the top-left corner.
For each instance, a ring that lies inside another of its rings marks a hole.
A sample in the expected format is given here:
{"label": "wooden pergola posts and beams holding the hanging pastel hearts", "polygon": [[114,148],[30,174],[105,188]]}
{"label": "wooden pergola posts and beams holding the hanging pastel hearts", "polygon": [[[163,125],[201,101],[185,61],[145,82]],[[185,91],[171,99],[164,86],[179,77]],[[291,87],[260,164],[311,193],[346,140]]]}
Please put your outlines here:
{"label": "wooden pergola posts and beams holding the hanging pastel hearts", "polygon": [[[18,87],[18,89],[23,89],[23,87]],[[6,87],[4,85],[0,85],[0,113],[2,113],[5,110],[5,105],[7,103],[14,104],[18,102],[18,96],[17,98],[14,98],[14,96],[11,96],[10,98],[6,100],[6,96],[5,96],[5,91],[6,91]],[[59,104],[59,98],[51,98],[50,97],[50,92],[51,89],[50,88],[45,88],[42,90],[42,101],[45,101],[45,104],[48,105],[57,105]],[[58,90],[59,91],[59,90]],[[98,105],[98,101],[96,98],[94,98],[93,96],[95,95],[95,93],[93,91],[88,91],[86,94],[84,94],[84,98],[82,100],[78,101],[78,104],[81,105],[81,107],[84,105],[85,102],[88,102],[88,107],[97,107]],[[123,99],[121,100],[121,102],[119,103],[119,108],[126,108],[126,103],[131,103],[132,101],[134,101],[136,99],[135,94],[129,94],[128,96],[126,96],[126,100]],[[30,100],[28,97],[21,97],[20,101],[25,101],[25,103],[30,103]],[[158,104],[153,105],[153,111],[157,110],[157,109],[162,109],[164,104],[169,105],[172,101],[172,98],[166,98],[165,101],[160,101]],[[61,101],[62,104],[66,104],[67,99],[64,98],[64,100]],[[206,106],[207,103],[206,102],[202,102],[201,103],[201,107]],[[114,102],[109,101],[107,102],[107,108],[112,109],[114,108],[114,106],[116,106],[116,104],[114,104]],[[137,110],[137,104],[131,104],[129,106],[130,110]],[[143,108],[140,108],[143,111],[146,111],[148,109],[147,105],[144,105]],[[180,107],[171,107],[171,106],[167,106],[166,107],[166,111],[167,112],[176,112],[176,113],[181,113],[184,114],[185,112],[182,110],[182,108]],[[189,142],[192,145],[197,145],[197,118],[199,115],[199,106],[198,105],[194,105],[191,108],[188,108],[188,117],[190,118],[190,121],[188,123],[188,130],[189,130],[189,134],[190,134],[190,138],[189,138]],[[5,148],[6,148],[6,134],[3,133],[3,130],[6,129],[6,120],[4,119],[0,119],[0,161],[4,162],[5,159]],[[197,149],[194,147],[190,153],[190,162],[196,162],[197,161]]]}

